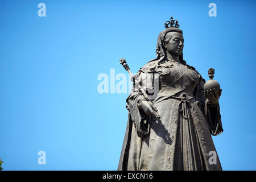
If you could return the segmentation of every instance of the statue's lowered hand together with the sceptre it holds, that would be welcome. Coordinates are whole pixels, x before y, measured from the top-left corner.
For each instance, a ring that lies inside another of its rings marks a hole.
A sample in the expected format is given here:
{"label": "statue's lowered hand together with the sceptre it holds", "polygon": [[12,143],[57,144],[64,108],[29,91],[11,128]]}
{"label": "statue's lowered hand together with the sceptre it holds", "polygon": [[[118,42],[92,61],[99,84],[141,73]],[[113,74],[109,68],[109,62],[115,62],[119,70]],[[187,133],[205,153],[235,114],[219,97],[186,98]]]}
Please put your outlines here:
{"label": "statue's lowered hand together with the sceptre it holds", "polygon": [[[126,63],[125,59],[121,59],[119,60],[119,63],[123,65],[123,68],[125,68],[125,70],[127,72],[129,72],[130,76],[133,78],[133,73],[131,73],[130,71],[130,67],[128,66],[128,64]],[[142,89],[142,94],[145,98],[144,101],[141,101],[141,106],[142,109],[144,110],[144,112],[148,115],[154,115],[156,118],[160,118],[160,115],[158,114],[158,109],[156,108],[156,106],[153,104],[153,102],[151,100],[149,100],[147,93]]]}

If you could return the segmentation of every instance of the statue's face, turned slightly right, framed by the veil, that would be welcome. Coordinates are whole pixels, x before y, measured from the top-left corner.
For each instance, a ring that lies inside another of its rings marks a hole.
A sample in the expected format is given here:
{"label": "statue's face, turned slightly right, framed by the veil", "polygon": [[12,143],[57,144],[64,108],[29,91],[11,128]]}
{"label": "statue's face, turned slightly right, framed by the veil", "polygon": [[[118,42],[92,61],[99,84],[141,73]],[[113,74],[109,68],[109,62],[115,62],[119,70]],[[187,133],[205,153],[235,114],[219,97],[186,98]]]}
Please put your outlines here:
{"label": "statue's face, turned slightly right, framed by the veil", "polygon": [[168,39],[170,39],[169,42],[164,44],[166,51],[168,51],[171,55],[175,55],[175,56],[181,55],[184,47],[183,35],[180,34],[179,32],[168,32],[166,34],[166,40]]}

